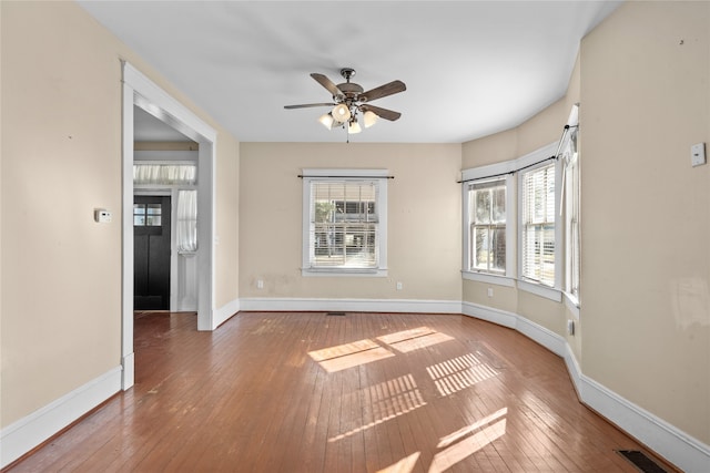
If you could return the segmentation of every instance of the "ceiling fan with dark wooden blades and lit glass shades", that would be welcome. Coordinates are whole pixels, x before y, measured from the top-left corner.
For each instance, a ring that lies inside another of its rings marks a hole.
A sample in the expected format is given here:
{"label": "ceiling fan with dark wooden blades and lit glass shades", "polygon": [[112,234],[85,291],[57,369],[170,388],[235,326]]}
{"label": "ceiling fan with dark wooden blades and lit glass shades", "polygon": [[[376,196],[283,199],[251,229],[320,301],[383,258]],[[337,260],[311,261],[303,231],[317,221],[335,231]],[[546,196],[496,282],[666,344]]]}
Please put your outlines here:
{"label": "ceiling fan with dark wooden blades and lit glass shades", "polygon": [[402,113],[399,112],[371,105],[369,102],[387,95],[404,92],[407,90],[404,82],[392,81],[365,92],[362,85],[351,82],[351,79],[355,75],[354,69],[341,69],[341,75],[345,79],[345,82],[336,85],[323,74],[315,72],[311,74],[317,83],[331,92],[333,95],[333,102],[285,105],[284,109],[292,110],[307,109],[312,106],[332,106],[333,109],[321,116],[318,121],[329,130],[339,126],[345,127],[347,124],[348,133],[359,133],[362,131],[358,123],[358,114],[361,113],[363,114],[363,124],[366,128],[374,125],[375,122],[377,122],[377,119],[385,119],[394,122],[402,116]]}

